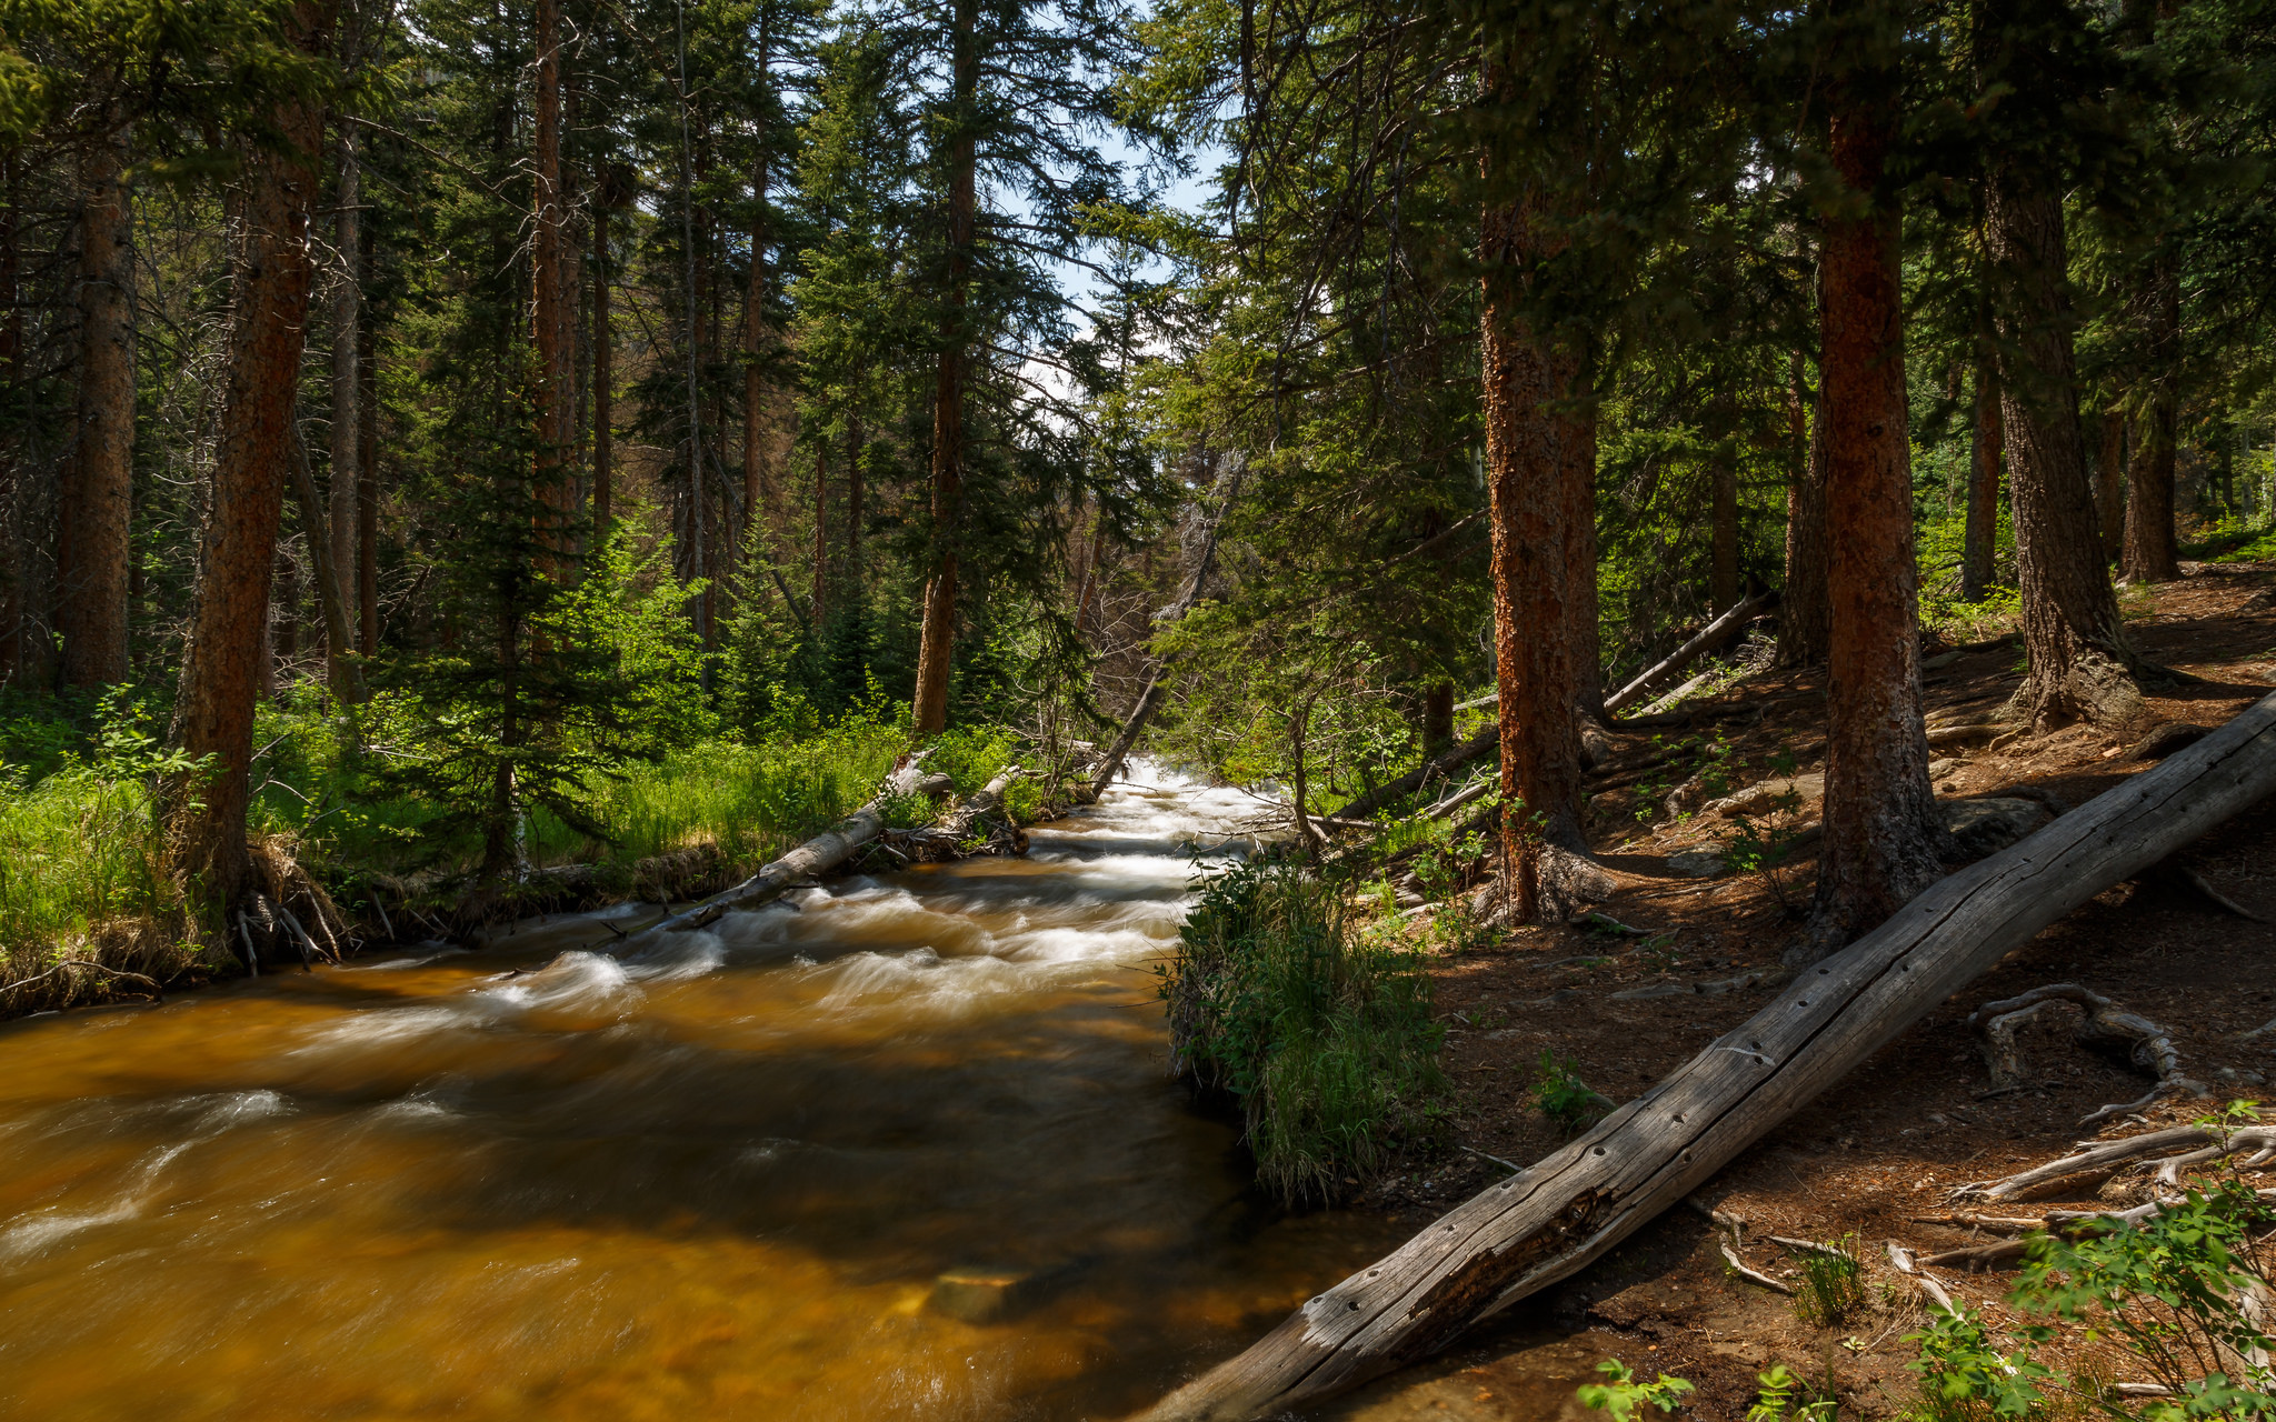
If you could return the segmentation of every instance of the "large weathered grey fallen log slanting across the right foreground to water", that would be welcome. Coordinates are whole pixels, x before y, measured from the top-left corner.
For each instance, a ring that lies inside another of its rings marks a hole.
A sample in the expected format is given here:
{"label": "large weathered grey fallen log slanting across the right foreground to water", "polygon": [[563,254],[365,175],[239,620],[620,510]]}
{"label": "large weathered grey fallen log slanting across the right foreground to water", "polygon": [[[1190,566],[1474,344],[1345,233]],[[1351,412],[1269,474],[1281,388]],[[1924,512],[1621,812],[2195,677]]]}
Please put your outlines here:
{"label": "large weathered grey fallen log slanting across the right foreground to water", "polygon": [[2042,928],[2269,792],[2276,696],[2021,844],[1944,878],[1809,967],[1641,1099],[1309,1299],[1145,1417],[1259,1417],[1438,1351],[1698,1190]]}

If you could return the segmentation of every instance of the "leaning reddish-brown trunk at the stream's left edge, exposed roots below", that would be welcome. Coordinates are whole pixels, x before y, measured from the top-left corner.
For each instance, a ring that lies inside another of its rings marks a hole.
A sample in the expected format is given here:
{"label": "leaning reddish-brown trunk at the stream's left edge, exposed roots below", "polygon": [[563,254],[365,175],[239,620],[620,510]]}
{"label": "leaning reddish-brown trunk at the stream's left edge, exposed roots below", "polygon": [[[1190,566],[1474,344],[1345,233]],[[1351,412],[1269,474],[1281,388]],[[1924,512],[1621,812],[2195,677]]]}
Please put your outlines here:
{"label": "leaning reddish-brown trunk at the stream's left edge, exposed roots below", "polygon": [[[284,11],[289,39],[310,52],[323,52],[330,25],[325,0],[298,0]],[[218,915],[246,881],[253,703],[314,278],[307,223],[323,114],[310,100],[287,100],[273,125],[280,146],[244,155],[214,487],[173,712],[175,744],[212,762],[209,771],[178,776],[166,794],[173,869],[196,885],[212,928],[221,928]]]}

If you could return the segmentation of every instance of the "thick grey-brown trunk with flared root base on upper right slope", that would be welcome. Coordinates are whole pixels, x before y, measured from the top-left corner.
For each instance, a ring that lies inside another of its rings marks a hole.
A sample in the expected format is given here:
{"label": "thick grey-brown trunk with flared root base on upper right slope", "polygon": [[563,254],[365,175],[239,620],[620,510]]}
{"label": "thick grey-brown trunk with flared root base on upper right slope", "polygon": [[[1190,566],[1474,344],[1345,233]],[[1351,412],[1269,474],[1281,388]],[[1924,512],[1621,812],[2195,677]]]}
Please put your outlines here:
{"label": "thick grey-brown trunk with flared root base on upper right slope", "polygon": [[[2030,137],[2067,123],[2048,75],[2060,36],[2078,27],[2062,0],[1980,0],[1978,86],[2007,86],[1998,114]],[[2078,373],[2062,175],[2042,171],[2044,143],[1994,146],[1985,175],[1991,316],[2001,350],[2001,423],[2014,512],[2017,582],[2030,669],[2014,710],[2039,730],[2076,719],[2130,721],[2142,710],[2139,662],[2103,567]]]}

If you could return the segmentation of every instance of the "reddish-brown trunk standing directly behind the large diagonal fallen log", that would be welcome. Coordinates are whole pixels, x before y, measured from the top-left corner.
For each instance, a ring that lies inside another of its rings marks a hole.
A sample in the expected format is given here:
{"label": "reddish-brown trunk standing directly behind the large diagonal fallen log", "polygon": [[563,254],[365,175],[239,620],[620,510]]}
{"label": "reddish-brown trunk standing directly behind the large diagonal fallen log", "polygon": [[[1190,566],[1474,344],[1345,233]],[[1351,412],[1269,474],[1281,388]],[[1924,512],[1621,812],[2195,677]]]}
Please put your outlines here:
{"label": "reddish-brown trunk standing directly behind the large diagonal fallen log", "polygon": [[1825,221],[1819,344],[1825,414],[1825,849],[1807,928],[1823,956],[1878,926],[1941,874],[1912,553],[1905,421],[1903,214],[1885,191],[1896,102],[1866,71],[1830,96],[1844,209]]}

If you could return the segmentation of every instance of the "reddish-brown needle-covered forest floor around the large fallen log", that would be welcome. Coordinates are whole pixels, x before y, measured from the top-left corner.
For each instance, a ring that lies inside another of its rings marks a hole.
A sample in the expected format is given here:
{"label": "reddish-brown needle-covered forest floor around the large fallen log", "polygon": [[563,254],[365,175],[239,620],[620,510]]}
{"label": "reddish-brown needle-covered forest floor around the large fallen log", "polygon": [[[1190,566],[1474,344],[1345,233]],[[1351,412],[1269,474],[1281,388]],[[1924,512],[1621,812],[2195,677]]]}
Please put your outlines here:
{"label": "reddish-brown needle-covered forest floor around the large fallen log", "polygon": [[[2276,685],[2276,564],[2224,567],[2128,598],[2135,644],[2151,660],[2201,683],[2151,698],[2119,735],[2071,728],[2001,749],[1937,751],[1939,799],[2055,796],[2080,805],[2151,764],[2135,755],[2164,724],[2219,726]],[[1930,726],[1966,726],[1996,712],[2021,678],[2014,642],[1930,658]],[[1698,703],[1696,726],[1723,728],[1714,755],[1732,789],[1778,778],[1780,753],[1798,771],[1823,769],[1823,676],[1759,673]],[[1746,714],[1714,719],[1746,708]],[[1764,708],[1757,714],[1755,708]],[[1712,744],[1712,742],[1709,742]],[[1948,760],[1948,764],[1946,764]],[[1734,821],[1709,810],[1641,826],[1632,801],[1659,787],[1598,796],[1598,846],[1618,892],[1600,910],[1655,933],[1616,940],[1584,928],[1525,928],[1486,949],[1434,960],[1454,1076],[1452,1147],[1416,1149],[1363,1204],[1420,1224],[1502,1174],[1468,1151],[1539,1160],[1566,1138],[1534,1103],[1543,1053],[1566,1058],[1605,1097],[1625,1101],[1712,1037],[1730,1031],[1784,981],[1780,953],[1809,899],[1812,860],[1796,853],[1780,885],[1764,874],[1687,878],[1671,867],[1687,851],[1723,851]],[[1793,819],[1814,819],[1805,808]],[[1616,824],[1634,826],[1618,833]],[[2251,912],[2276,919],[2276,803],[2237,817],[2178,855]],[[1643,946],[1636,946],[1636,944]],[[1589,958],[1600,953],[1600,958]],[[1511,1311],[1479,1340],[1427,1370],[1377,1383],[1336,1417],[1586,1417],[1573,1388],[1607,1356],[1639,1374],[1671,1372],[1698,1383],[1687,1417],[1739,1422],[1755,1402],[1755,1374],[1771,1363],[1828,1388],[1841,1417],[1891,1417],[1914,1397],[1903,1342],[1921,1326],[1910,1288],[1887,1265],[1885,1242],[1916,1251],[1955,1249],[1969,1233],[1921,1222],[1948,1210],[1946,1190],[2067,1154],[2080,1117],[2133,1101],[2149,1081],[2071,1044],[2073,1017],[2039,1019],[2021,1040],[2042,1074],[2035,1090],[1989,1097],[1989,1072],[1966,1017],[1980,1003],[2046,983],[2080,983],[2171,1031],[2190,1076],[2212,1101],[2180,1099],[2112,1122],[2124,1135],[2203,1115],[2224,1099],[2267,1099],[2276,1033],[2240,1035],[2276,1019],[2276,926],[2224,912],[2187,890],[2119,885],[2071,912],[1996,972],[1969,985],[1875,1053],[1844,1085],[1748,1149],[1698,1199],[1743,1220],[1741,1258],[1793,1276],[1793,1256],[1768,1235],[1855,1235],[1871,1304],[1830,1329],[1805,1326],[1789,1299],[1725,1267],[1721,1231],[1673,1210],[1618,1254]],[[1750,981],[1753,978],[1753,981]],[[1459,1149],[1468,1147],[1468,1151]],[[2260,1185],[2276,1185],[2262,1172]],[[2087,1206],[2092,1194],[2055,1194],[2021,1213]],[[2014,1322],[2001,1306],[2012,1274],[1941,1279],[1955,1297]],[[1887,1292],[1885,1292],[1887,1288]],[[1887,1304],[1887,1299],[1903,1299]]]}

